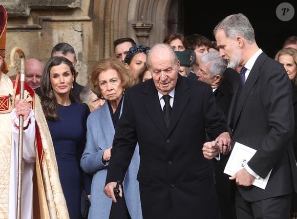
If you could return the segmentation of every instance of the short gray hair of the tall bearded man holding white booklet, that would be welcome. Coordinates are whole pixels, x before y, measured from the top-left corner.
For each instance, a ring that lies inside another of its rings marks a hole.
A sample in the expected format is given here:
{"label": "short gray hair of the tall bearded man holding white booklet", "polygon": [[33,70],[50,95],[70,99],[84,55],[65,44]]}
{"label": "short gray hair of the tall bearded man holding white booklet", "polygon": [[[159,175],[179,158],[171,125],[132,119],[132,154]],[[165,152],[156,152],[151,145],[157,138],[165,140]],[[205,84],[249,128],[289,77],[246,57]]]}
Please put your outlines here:
{"label": "short gray hair of the tall bearded man holding white booklet", "polygon": [[214,29],[214,35],[218,30],[223,30],[227,37],[235,39],[236,36],[240,35],[246,39],[249,44],[255,41],[254,30],[249,22],[249,19],[239,13],[232,14],[225,17]]}

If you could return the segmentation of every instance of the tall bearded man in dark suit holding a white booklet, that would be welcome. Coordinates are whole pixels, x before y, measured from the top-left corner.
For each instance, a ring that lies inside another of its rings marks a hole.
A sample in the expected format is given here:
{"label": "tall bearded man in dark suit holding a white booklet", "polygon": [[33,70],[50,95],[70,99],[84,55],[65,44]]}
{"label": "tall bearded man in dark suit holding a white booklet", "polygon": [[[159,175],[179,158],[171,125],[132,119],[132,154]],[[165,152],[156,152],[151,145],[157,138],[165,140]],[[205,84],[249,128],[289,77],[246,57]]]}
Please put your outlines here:
{"label": "tall bearded man in dark suit holding a white booklet", "polygon": [[[283,66],[257,46],[246,16],[233,14],[214,29],[220,55],[242,67],[228,116],[231,146],[256,149],[245,167],[230,177],[238,218],[289,218],[297,168],[291,144],[294,117],[289,78]],[[266,178],[265,189],[252,185]]]}

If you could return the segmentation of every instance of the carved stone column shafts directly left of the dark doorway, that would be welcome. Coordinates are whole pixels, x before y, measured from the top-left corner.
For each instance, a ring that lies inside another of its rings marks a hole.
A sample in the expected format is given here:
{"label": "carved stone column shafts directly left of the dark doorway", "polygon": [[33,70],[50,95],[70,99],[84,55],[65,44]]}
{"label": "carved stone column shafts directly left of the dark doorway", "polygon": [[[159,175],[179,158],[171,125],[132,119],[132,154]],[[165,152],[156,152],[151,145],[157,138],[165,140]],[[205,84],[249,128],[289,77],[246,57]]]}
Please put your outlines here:
{"label": "carved stone column shafts directly left of the dark doorway", "polygon": [[147,46],[162,42],[170,4],[171,0],[105,1],[103,56],[113,56],[113,41],[121,37],[131,37]]}

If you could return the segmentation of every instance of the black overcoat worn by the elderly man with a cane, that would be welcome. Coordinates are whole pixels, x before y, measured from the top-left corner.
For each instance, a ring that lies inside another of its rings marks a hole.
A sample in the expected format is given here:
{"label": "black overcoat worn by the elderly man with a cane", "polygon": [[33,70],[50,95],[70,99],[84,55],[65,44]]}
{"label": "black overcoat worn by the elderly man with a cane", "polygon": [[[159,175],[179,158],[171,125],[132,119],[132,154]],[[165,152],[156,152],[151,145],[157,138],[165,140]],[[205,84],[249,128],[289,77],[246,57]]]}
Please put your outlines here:
{"label": "black overcoat worn by the elderly man with a cane", "polygon": [[143,218],[220,218],[211,162],[202,154],[208,135],[227,130],[210,86],[178,75],[166,128],[152,79],[125,92],[107,183],[122,181],[136,143]]}

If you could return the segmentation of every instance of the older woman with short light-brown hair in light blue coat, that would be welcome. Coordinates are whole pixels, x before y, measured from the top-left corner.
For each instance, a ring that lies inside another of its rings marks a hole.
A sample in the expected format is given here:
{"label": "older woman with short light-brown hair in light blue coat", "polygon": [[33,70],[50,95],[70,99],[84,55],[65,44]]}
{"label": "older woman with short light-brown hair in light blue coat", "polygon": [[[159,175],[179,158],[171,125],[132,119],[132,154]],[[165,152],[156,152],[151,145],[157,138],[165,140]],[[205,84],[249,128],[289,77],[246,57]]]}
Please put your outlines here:
{"label": "older woman with short light-brown hair in light blue coat", "polygon": [[[90,86],[94,93],[102,93],[105,104],[88,117],[87,143],[80,162],[83,171],[94,174],[88,218],[109,218],[112,203],[110,198],[103,193],[103,188],[114,134],[122,112],[123,93],[132,85],[131,73],[116,58],[101,59],[93,68]],[[126,207],[124,202],[123,204],[117,202],[114,218],[125,218],[128,214],[133,219],[142,218],[139,184],[136,180],[138,168],[139,149],[136,147],[123,182]],[[115,214],[121,215],[117,217]]]}

